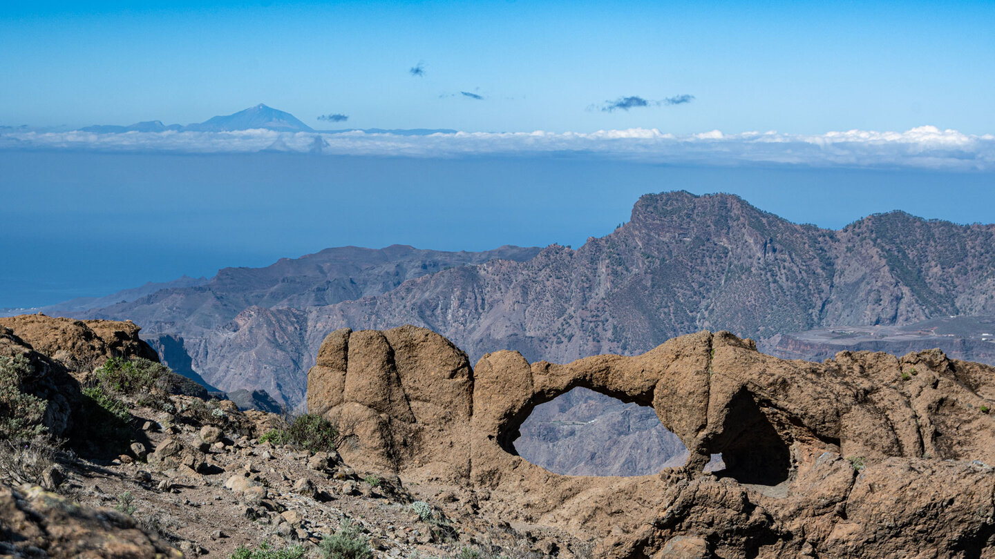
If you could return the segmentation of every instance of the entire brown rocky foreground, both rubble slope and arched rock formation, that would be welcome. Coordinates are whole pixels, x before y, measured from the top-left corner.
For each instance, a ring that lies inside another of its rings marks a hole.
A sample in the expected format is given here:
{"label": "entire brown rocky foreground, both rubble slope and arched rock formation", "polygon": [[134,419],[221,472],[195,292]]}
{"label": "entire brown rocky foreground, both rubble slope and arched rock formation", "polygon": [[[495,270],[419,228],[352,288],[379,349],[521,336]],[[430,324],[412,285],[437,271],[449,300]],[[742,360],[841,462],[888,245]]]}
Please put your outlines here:
{"label": "entire brown rocky foreground, both rubble slope and arched rock formation", "polygon": [[[0,386],[4,556],[336,557],[342,542],[461,559],[995,549],[995,368],[940,351],[786,361],[702,331],[632,357],[554,365],[498,351],[471,366],[427,329],[343,329],[308,374],[312,414],[288,423],[203,387],[184,394],[140,357],[154,355],[136,334],[128,322],[5,320],[0,372],[24,374]],[[591,477],[517,456],[531,411],[577,388],[652,409],[684,464]],[[90,400],[123,403],[121,430]],[[21,417],[49,434],[12,447],[35,433]],[[724,464],[707,471],[711,455]]]}

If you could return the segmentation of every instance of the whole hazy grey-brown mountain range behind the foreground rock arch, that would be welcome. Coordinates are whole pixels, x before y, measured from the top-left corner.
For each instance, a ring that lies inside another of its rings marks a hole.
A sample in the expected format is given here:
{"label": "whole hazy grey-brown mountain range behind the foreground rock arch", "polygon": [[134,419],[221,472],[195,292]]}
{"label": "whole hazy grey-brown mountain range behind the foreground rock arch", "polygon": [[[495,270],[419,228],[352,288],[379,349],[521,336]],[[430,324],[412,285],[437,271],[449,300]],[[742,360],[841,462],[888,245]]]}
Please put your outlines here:
{"label": "whole hazy grey-brown mountain range behind the foreground rock arch", "polygon": [[644,196],[630,222],[577,250],[329,249],[78,314],[135,320],[171,336],[159,348],[180,372],[293,405],[324,334],[343,326],[412,323],[474,357],[512,348],[562,362],[701,328],[763,345],[824,325],[995,313],[993,241],[992,225],[894,212],[829,231],[735,196],[671,192]]}

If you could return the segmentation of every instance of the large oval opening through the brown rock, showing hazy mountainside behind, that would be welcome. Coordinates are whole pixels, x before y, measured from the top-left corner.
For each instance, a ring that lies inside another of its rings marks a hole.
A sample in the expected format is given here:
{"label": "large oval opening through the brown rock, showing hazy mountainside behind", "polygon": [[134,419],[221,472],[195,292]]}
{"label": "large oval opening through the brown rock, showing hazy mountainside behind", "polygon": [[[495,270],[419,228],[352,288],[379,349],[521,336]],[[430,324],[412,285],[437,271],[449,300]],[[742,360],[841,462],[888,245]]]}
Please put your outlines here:
{"label": "large oval opening through the brown rock, showing hazy mountainside behind", "polygon": [[[688,461],[688,449],[653,408],[587,388],[536,406],[518,434],[518,456],[564,475],[644,475]],[[716,460],[705,469],[721,468]]]}

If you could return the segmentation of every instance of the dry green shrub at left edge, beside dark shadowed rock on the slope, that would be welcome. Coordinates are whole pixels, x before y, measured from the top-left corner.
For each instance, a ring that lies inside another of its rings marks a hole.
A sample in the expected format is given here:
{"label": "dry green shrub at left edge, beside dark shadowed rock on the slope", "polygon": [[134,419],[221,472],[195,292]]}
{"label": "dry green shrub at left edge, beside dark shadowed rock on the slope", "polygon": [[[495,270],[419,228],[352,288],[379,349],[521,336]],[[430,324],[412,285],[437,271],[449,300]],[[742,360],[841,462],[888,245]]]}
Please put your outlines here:
{"label": "dry green shrub at left edge, beside dark shadowed rock on the slope", "polygon": [[24,355],[0,357],[0,440],[29,441],[45,433],[45,400],[21,392],[21,385],[35,374]]}

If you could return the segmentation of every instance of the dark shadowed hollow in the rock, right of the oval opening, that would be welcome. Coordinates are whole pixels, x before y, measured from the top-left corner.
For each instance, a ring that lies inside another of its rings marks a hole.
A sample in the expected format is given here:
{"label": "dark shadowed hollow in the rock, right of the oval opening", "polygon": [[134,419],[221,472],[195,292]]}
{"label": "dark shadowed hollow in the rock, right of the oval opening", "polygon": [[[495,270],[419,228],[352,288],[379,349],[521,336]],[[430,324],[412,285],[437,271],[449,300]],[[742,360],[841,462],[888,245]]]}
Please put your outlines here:
{"label": "dark shadowed hollow in the rock, right of the oval opening", "polygon": [[722,436],[714,443],[712,448],[721,450],[724,463],[716,475],[740,483],[777,485],[791,474],[791,451],[746,392],[732,398]]}

